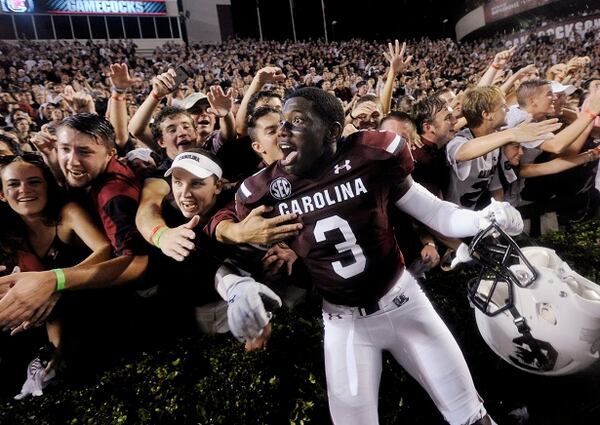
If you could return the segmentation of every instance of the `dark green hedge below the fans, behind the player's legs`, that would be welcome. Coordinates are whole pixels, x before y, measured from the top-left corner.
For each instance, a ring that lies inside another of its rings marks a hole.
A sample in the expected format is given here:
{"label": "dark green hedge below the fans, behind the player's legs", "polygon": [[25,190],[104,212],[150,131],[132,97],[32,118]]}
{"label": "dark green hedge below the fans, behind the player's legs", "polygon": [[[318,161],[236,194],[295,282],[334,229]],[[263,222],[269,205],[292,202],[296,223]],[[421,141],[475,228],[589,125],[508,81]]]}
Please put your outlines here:
{"label": "dark green hedge below the fans, behind the player's legs", "polygon": [[[543,237],[576,270],[597,280],[600,231],[588,222]],[[498,359],[477,333],[465,283],[474,268],[430,276],[424,284],[499,423],[527,406],[528,424],[598,423],[600,369],[544,378]],[[230,336],[181,339],[123,359],[92,384],[62,383],[43,397],[0,400],[0,424],[328,424],[322,325],[316,302],[279,311],[268,349],[246,353]],[[423,390],[384,358],[382,424],[444,423]],[[590,422],[591,421],[591,422]]]}

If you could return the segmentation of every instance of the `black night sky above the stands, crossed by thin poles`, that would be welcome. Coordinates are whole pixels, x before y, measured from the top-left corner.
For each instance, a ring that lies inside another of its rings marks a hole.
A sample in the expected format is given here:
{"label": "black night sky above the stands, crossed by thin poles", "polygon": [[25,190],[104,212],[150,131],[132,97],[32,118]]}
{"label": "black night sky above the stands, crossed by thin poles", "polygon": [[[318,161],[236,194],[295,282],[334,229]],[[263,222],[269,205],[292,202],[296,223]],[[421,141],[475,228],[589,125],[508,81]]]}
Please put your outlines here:
{"label": "black night sky above the stands, crossed by thin poles", "polygon": [[[330,41],[453,36],[454,24],[464,15],[465,4],[464,0],[323,1]],[[293,3],[297,38],[323,37],[321,0]],[[264,38],[292,39],[289,0],[259,0],[259,5]],[[237,35],[258,38],[256,1],[231,0],[231,7]],[[445,18],[448,22],[444,24]],[[333,21],[337,21],[335,26]]]}

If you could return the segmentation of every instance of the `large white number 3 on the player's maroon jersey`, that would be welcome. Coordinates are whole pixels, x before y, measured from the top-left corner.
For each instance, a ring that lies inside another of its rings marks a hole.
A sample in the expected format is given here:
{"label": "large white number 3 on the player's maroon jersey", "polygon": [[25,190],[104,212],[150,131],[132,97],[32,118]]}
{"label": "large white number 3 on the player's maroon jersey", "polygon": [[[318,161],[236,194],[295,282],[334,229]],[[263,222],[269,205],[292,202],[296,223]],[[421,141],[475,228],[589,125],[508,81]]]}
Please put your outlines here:
{"label": "large white number 3 on the player's maroon jersey", "polygon": [[321,219],[315,223],[314,235],[317,242],[323,242],[327,238],[326,232],[339,229],[344,236],[344,241],[335,245],[335,248],[340,254],[350,251],[354,257],[354,263],[343,266],[340,261],[331,263],[333,270],[342,276],[344,279],[350,279],[365,270],[367,260],[362,248],[356,242],[356,236],[352,232],[350,225],[346,220],[338,215]]}

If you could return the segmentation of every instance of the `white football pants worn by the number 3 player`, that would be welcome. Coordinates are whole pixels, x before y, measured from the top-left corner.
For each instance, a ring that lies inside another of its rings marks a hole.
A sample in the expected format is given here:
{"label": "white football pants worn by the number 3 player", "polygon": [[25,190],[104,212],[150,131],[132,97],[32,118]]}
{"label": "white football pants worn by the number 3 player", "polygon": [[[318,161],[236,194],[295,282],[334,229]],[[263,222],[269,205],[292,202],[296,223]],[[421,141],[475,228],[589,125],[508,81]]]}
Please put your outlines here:
{"label": "white football pants worn by the number 3 player", "polygon": [[361,316],[358,307],[323,301],[325,371],[334,424],[379,423],[382,350],[421,384],[450,424],[471,424],[485,416],[458,344],[408,271],[379,306],[381,310]]}

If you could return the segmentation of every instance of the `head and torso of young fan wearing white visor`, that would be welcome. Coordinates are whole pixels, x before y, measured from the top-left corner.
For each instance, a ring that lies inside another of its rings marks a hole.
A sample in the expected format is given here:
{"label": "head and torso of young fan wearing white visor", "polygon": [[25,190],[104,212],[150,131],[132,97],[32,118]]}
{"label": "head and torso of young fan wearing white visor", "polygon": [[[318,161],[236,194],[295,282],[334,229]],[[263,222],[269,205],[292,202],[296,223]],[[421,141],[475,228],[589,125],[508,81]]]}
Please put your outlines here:
{"label": "head and torso of young fan wearing white visor", "polygon": [[[225,256],[225,247],[210,238],[202,228],[223,204],[231,199],[219,197],[223,170],[217,158],[203,149],[190,149],[178,154],[166,171],[171,192],[161,205],[161,215],[170,228],[189,224],[197,228],[190,243],[194,249],[182,262],[164,255],[152,257],[148,274],[159,283],[163,302],[178,331],[198,327],[204,333],[225,333],[227,304],[215,291],[214,277]],[[164,226],[164,228],[169,228]],[[162,228],[162,227],[161,227]],[[155,242],[162,243],[161,228],[155,232]]]}

